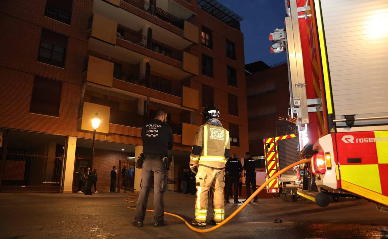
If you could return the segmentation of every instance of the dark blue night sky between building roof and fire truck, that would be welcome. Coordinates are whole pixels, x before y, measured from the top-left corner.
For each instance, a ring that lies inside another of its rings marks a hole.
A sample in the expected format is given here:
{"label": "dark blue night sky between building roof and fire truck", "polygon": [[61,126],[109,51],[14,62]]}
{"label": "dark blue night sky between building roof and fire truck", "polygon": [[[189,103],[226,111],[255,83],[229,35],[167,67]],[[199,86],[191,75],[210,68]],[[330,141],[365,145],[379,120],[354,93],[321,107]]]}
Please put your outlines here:
{"label": "dark blue night sky between building roof and fire truck", "polygon": [[267,65],[286,60],[286,53],[271,54],[269,33],[276,28],[284,28],[286,10],[284,0],[218,0],[244,20],[245,64],[262,60]]}

